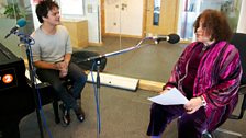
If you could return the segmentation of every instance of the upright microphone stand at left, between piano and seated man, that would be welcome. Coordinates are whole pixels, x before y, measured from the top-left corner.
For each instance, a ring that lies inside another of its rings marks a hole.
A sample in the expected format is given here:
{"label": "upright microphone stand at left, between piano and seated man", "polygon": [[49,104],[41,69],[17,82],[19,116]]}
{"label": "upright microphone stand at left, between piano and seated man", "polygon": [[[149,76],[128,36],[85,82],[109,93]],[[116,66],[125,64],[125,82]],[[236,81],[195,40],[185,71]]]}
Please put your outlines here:
{"label": "upright microphone stand at left, between piano and seated man", "polygon": [[40,110],[41,110],[41,105],[38,104],[38,95],[36,93],[36,79],[35,79],[35,72],[34,72],[34,66],[33,66],[33,58],[32,58],[32,50],[31,50],[31,45],[34,45],[34,39],[25,34],[21,34],[18,32],[14,32],[14,34],[16,36],[20,37],[20,42],[23,44],[19,44],[20,45],[24,45],[25,46],[25,53],[27,56],[27,61],[29,61],[29,72],[30,72],[30,78],[31,78],[31,84],[32,84],[32,92],[33,92],[33,96],[34,96],[34,102],[35,102],[35,111],[36,111],[36,116],[37,116],[37,123],[38,123],[38,128],[40,128],[40,135],[41,138],[44,138],[44,133],[43,133],[43,126],[42,126],[42,119],[41,119],[41,114],[40,114]]}

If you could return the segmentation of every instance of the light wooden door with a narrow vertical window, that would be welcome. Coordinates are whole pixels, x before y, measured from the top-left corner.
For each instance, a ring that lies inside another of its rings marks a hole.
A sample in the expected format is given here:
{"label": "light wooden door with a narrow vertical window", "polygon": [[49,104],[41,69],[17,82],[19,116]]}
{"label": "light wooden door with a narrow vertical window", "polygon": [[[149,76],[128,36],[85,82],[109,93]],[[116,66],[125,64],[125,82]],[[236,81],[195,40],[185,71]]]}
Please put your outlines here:
{"label": "light wooden door with a narrow vertical window", "polygon": [[146,34],[177,33],[179,0],[147,0]]}

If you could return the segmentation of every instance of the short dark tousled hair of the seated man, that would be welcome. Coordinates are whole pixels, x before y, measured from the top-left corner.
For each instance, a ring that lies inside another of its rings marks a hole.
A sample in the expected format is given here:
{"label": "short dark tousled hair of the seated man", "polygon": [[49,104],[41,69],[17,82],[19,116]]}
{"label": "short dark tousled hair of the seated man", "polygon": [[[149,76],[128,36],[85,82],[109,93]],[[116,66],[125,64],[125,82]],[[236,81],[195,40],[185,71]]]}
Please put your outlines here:
{"label": "short dark tousled hair of the seated man", "polygon": [[53,0],[43,0],[36,5],[36,15],[40,23],[44,22],[43,18],[47,18],[48,11],[54,8],[59,9],[59,5]]}

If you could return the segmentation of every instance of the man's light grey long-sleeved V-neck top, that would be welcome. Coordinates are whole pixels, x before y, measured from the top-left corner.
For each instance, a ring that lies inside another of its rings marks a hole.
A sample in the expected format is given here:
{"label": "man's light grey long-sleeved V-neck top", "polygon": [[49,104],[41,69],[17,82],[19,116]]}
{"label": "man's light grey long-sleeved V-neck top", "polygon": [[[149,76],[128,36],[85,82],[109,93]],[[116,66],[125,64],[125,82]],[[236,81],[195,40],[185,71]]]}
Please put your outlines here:
{"label": "man's light grey long-sleeved V-neck top", "polygon": [[71,54],[70,36],[65,26],[57,25],[56,34],[45,34],[41,27],[33,32],[35,44],[31,47],[33,61],[57,62],[65,54]]}

